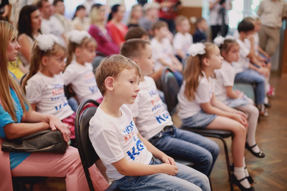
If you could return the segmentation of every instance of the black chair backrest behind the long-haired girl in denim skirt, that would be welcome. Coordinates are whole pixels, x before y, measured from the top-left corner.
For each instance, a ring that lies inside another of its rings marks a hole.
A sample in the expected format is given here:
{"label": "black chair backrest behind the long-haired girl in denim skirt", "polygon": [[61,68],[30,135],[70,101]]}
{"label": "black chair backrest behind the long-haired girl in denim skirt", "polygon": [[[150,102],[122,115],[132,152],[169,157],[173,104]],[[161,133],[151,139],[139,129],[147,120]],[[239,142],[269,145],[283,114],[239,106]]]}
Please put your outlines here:
{"label": "black chair backrest behind the long-haired girl in denim skirt", "polygon": [[165,96],[165,103],[168,106],[168,112],[172,115],[177,105],[177,94],[180,90],[177,80],[170,68],[165,67],[161,74],[161,85]]}

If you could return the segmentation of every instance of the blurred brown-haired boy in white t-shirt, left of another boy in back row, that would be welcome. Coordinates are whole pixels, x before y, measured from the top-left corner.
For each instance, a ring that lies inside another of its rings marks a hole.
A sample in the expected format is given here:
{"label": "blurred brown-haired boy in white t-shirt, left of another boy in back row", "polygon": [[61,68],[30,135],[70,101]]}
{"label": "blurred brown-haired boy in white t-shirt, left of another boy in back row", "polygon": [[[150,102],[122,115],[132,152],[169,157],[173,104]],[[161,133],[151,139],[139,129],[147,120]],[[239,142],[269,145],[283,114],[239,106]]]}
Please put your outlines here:
{"label": "blurred brown-haired boy in white t-shirt, left of another boy in back row", "polygon": [[162,70],[163,67],[168,66],[173,70],[175,78],[179,86],[182,84],[182,64],[173,54],[173,48],[168,35],[168,24],[165,21],[159,20],[152,26],[154,33],[151,39],[151,49],[153,50],[153,59],[156,61],[154,71]]}

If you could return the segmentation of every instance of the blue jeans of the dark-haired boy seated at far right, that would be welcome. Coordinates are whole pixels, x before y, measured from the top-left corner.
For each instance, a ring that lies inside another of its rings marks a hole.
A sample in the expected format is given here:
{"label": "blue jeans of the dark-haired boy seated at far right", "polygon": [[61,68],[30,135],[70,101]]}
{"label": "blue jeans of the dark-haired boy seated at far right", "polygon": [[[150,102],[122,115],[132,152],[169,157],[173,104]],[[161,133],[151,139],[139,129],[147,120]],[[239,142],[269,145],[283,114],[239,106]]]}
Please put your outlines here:
{"label": "blue jeans of the dark-haired boy seated at far right", "polygon": [[255,87],[256,102],[258,105],[264,103],[265,77],[263,75],[256,72],[255,70],[246,69],[243,72],[235,75],[235,81],[236,80],[251,82],[251,83],[255,82],[256,83],[256,87]]}

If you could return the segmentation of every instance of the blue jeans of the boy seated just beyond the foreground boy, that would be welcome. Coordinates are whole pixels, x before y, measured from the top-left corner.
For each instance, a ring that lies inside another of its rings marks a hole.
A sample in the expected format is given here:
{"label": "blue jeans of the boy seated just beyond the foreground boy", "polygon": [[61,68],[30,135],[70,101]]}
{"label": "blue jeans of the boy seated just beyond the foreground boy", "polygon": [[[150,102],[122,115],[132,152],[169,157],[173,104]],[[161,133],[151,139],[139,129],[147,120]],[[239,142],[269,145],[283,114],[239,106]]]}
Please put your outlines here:
{"label": "blue jeans of the boy seated just beyond the foreground boy", "polygon": [[160,134],[158,139],[149,140],[151,144],[174,159],[192,161],[194,163],[192,168],[207,177],[210,176],[219,153],[216,142],[176,127]]}

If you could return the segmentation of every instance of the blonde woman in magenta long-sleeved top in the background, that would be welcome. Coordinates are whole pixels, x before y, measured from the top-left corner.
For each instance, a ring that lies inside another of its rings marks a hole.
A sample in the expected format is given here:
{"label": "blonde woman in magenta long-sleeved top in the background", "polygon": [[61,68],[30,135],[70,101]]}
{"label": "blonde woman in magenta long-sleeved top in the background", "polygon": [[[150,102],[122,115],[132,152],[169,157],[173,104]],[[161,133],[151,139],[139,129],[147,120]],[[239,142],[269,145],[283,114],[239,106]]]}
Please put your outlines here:
{"label": "blonde woman in magenta long-sleeved top in the background", "polygon": [[102,52],[106,56],[119,54],[118,45],[112,40],[107,33],[106,28],[106,6],[102,4],[94,4],[90,12],[91,26],[88,32],[97,41],[97,51]]}

